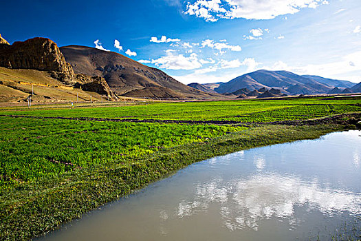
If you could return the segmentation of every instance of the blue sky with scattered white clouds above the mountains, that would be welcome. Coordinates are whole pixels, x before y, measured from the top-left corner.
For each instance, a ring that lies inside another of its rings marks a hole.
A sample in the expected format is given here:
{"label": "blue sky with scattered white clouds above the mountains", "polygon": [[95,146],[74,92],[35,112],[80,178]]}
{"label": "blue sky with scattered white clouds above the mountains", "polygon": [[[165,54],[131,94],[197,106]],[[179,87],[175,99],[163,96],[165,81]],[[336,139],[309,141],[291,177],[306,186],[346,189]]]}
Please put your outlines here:
{"label": "blue sky with scattered white clouds above the mountains", "polygon": [[182,83],[287,70],[359,83],[360,0],[0,0],[0,34],[86,45]]}

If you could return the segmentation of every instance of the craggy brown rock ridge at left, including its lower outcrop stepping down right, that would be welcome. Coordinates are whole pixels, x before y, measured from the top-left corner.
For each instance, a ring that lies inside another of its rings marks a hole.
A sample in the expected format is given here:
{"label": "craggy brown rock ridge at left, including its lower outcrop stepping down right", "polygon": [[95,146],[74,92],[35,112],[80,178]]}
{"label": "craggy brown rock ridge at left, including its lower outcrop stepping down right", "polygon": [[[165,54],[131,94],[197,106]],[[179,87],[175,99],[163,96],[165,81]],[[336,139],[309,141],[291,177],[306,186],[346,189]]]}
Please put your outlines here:
{"label": "craggy brown rock ridge at left, including its lower outcrop stepping down right", "polygon": [[[2,38],[1,38],[2,39]],[[4,41],[1,41],[4,42]],[[74,74],[72,66],[65,61],[65,57],[59,50],[54,41],[45,38],[34,38],[26,41],[18,41],[12,45],[0,43],[0,67],[6,67],[9,70],[38,70],[36,75],[41,78],[54,78],[61,81],[60,85],[70,87],[84,88],[89,92],[102,93],[109,98],[116,98],[111,92],[105,79],[91,78],[84,74]],[[5,71],[5,70],[4,70]],[[34,80],[34,72],[22,73],[23,83],[28,83],[28,79]],[[17,72],[9,72],[8,76],[17,78]],[[51,81],[50,81],[51,82]]]}

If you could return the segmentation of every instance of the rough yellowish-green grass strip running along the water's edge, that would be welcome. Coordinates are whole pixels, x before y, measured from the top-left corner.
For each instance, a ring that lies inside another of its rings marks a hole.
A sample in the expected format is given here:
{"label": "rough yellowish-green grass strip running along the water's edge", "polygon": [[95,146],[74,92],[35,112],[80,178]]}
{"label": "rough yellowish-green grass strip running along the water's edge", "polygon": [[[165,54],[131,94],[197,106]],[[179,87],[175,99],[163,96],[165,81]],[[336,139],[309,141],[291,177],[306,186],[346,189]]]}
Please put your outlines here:
{"label": "rough yellowish-green grass strip running along the water's edge", "polygon": [[[360,119],[360,114],[356,118]],[[256,125],[204,143],[162,149],[135,158],[128,166],[109,163],[28,182],[23,189],[1,194],[1,199],[6,197],[6,200],[1,201],[0,239],[39,237],[81,218],[87,211],[127,196],[201,160],[254,147],[316,139],[349,129],[360,129],[360,123],[347,116],[327,121],[324,125]]]}

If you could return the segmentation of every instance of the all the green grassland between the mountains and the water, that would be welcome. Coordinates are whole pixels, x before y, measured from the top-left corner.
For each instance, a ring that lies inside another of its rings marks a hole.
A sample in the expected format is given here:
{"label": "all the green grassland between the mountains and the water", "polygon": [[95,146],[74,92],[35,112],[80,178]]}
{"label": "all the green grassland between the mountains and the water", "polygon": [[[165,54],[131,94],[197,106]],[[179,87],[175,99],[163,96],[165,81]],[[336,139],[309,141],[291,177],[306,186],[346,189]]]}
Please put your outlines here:
{"label": "all the green grassland between the mountains and the water", "polygon": [[[5,108],[0,117],[0,240],[27,240],[191,163],[360,127],[360,98]],[[336,114],[326,125],[263,125]],[[240,121],[180,125],[48,117]],[[244,127],[241,122],[254,123]]]}

